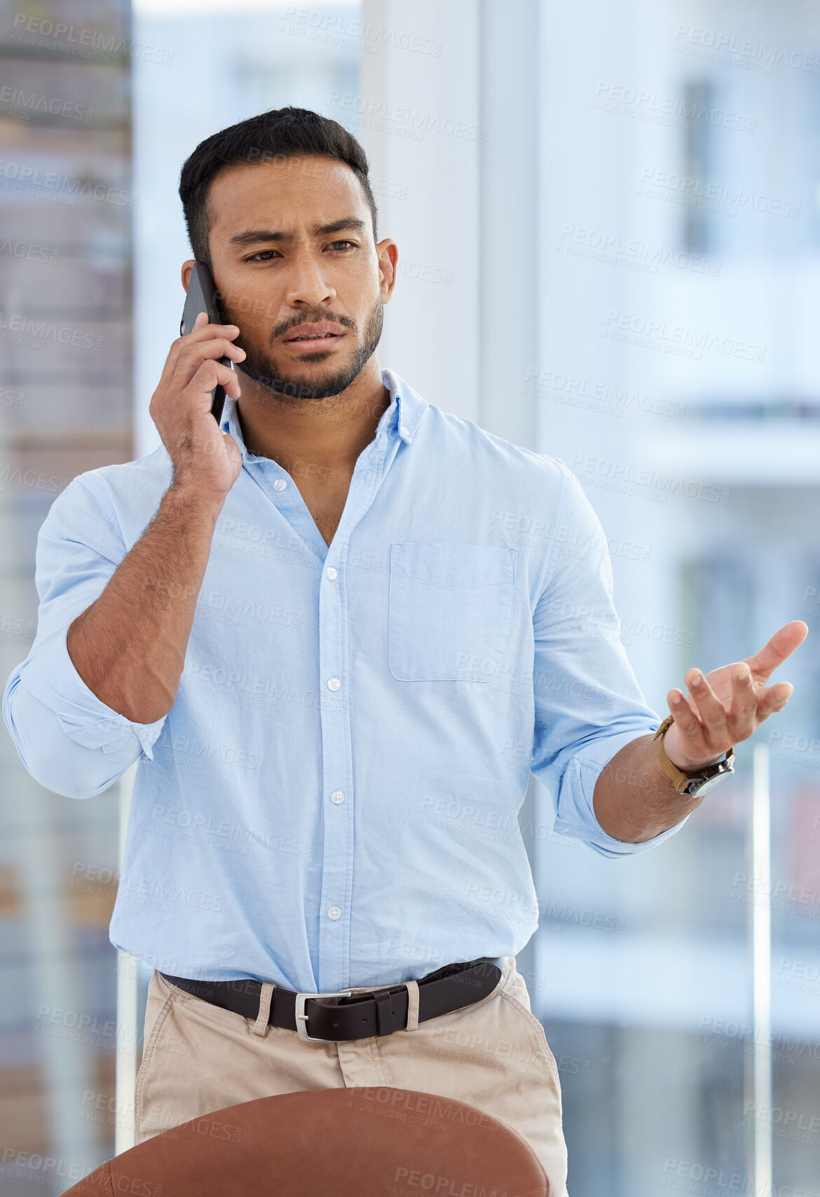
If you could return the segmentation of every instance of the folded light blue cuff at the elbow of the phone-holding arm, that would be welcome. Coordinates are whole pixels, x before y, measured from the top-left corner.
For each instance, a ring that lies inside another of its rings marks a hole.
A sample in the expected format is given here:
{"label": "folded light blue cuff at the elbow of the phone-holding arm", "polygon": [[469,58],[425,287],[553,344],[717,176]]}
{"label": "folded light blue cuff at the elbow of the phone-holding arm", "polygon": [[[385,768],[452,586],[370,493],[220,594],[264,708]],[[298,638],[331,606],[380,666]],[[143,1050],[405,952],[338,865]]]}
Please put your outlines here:
{"label": "folded light blue cuff at the elbow of the phone-holding arm", "polygon": [[152,748],[166,715],[154,723],[134,723],[107,706],[89,689],[68,655],[68,630],[57,633],[20,667],[20,681],[54,711],[65,734],[83,748],[123,752],[136,748],[153,760]]}

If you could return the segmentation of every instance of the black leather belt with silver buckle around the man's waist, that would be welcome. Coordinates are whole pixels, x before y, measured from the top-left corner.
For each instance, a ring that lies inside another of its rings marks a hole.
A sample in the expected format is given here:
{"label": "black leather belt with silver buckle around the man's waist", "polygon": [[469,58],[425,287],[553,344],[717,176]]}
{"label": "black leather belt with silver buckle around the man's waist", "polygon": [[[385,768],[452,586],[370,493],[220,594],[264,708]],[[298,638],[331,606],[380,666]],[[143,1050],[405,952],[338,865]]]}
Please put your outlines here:
{"label": "black leather belt with silver buckle around the man's waist", "polygon": [[[166,982],[201,997],[224,1010],[245,1019],[259,1015],[262,983],[249,978],[237,980],[192,980],[160,973]],[[419,1022],[451,1014],[487,997],[498,985],[502,970],[490,956],[463,964],[445,965],[419,980]],[[338,998],[326,1005],[326,998]],[[292,989],[273,988],[268,1022],[296,1031],[300,1039],[336,1043],[389,1035],[407,1026],[409,997],[407,986],[375,986],[364,994],[344,990],[336,994],[296,994]]]}

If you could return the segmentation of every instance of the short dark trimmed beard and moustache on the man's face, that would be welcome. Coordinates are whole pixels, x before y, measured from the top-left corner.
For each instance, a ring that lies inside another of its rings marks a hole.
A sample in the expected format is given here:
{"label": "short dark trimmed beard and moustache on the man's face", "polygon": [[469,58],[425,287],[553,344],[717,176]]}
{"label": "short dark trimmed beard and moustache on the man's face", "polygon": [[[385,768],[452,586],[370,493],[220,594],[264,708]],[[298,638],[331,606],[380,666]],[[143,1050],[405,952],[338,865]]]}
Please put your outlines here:
{"label": "short dark trimmed beard and moustache on the man's face", "polygon": [[[334,320],[345,328],[356,332],[356,323],[348,316],[318,312],[315,316],[300,317],[299,322],[308,323],[311,320]],[[226,323],[239,324],[239,321],[233,320],[229,312],[225,312],[225,321]],[[308,351],[310,353],[310,363],[308,364],[311,371],[310,381],[299,376],[297,372],[299,370],[298,365],[290,371],[281,370],[268,353],[248,345],[243,340],[242,334],[233,339],[233,344],[238,345],[247,353],[244,361],[239,363],[242,373],[248,375],[249,378],[253,378],[254,382],[259,383],[260,387],[263,387],[272,395],[285,399],[329,399],[332,395],[339,395],[342,390],[346,390],[362,373],[381,340],[383,323],[384,304],[379,294],[368,317],[364,334],[353,356],[353,360],[346,366],[330,366],[327,373],[314,372],[315,364],[329,358],[334,351],[317,350],[316,353]],[[291,327],[294,326],[291,324]],[[273,338],[277,332],[277,329],[273,329],[271,336]],[[305,366],[302,366],[302,369],[304,370]]]}

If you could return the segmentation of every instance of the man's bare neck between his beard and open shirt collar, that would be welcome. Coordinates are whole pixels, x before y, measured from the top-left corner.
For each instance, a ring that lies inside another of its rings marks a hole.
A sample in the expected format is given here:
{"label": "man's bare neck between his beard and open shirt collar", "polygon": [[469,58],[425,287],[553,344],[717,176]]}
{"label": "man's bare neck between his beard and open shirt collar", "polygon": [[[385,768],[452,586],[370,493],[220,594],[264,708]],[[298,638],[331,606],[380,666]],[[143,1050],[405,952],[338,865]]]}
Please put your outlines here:
{"label": "man's bare neck between his beard and open shirt collar", "polygon": [[350,387],[328,399],[274,395],[245,375],[241,385],[236,407],[248,451],[271,457],[288,473],[291,463],[300,462],[352,474],[390,406],[375,353]]}

